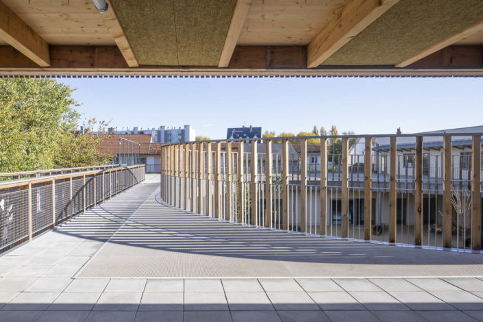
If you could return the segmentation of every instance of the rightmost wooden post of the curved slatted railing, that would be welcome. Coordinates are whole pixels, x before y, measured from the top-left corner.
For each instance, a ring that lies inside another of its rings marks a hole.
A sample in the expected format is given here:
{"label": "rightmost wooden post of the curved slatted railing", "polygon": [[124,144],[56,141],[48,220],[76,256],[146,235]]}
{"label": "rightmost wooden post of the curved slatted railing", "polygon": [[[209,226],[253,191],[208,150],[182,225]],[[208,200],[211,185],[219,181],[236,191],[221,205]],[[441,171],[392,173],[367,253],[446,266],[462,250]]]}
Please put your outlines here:
{"label": "rightmost wooden post of the curved slatted railing", "polygon": [[473,220],[471,222],[471,248],[482,249],[482,137],[473,136],[472,160],[473,166]]}

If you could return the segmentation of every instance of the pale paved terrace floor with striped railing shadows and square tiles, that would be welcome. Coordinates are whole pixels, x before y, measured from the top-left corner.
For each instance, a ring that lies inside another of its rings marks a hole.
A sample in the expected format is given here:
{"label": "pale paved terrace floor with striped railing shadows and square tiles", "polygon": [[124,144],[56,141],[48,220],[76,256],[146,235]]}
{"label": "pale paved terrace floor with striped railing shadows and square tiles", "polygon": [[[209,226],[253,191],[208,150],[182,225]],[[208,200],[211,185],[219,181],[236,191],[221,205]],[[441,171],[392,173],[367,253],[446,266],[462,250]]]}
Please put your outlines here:
{"label": "pale paved terrace floor with striped railing shadows and square tiles", "polygon": [[483,321],[483,255],[232,225],[149,183],[0,256],[0,321]]}

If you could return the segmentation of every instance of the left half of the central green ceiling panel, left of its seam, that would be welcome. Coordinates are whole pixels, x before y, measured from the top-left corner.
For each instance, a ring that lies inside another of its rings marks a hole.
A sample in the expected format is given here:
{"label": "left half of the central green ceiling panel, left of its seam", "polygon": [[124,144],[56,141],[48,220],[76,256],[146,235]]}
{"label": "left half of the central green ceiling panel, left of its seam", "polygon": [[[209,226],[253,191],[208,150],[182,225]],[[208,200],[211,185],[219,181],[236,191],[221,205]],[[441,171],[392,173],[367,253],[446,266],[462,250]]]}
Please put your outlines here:
{"label": "left half of the central green ceiling panel, left of its seam", "polygon": [[111,0],[141,65],[177,65],[173,0]]}

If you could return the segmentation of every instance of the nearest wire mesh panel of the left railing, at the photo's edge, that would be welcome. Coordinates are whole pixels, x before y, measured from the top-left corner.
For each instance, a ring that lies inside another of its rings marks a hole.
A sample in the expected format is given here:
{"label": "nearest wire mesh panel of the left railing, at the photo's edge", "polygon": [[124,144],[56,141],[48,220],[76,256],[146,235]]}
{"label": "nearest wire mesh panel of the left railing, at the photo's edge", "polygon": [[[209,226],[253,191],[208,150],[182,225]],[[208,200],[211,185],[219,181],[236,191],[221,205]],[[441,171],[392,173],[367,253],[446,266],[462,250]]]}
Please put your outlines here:
{"label": "nearest wire mesh panel of the left railing, at the photo's edge", "polygon": [[28,191],[0,194],[0,250],[29,236]]}

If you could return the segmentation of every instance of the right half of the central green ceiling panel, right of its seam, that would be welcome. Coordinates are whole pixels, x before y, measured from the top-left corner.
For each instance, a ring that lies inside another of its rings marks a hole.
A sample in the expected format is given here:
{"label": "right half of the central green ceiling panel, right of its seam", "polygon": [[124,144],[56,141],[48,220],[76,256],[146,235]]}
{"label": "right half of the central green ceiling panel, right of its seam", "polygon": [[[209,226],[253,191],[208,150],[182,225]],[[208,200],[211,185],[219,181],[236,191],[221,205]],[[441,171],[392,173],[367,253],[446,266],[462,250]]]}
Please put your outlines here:
{"label": "right half of the central green ceiling panel, right of its seam", "polygon": [[175,0],[180,65],[218,66],[236,0]]}

